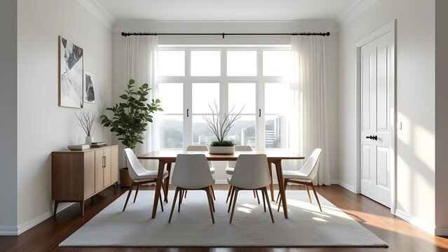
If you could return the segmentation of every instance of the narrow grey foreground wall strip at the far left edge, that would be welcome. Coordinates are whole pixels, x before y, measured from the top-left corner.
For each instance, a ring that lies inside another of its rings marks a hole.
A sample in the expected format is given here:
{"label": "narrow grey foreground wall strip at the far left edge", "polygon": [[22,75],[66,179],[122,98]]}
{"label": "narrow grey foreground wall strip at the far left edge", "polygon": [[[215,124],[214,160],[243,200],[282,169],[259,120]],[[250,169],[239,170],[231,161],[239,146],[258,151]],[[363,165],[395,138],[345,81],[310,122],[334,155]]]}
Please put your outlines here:
{"label": "narrow grey foreground wall strip at the far left edge", "polygon": [[0,235],[17,226],[17,1],[0,8]]}

